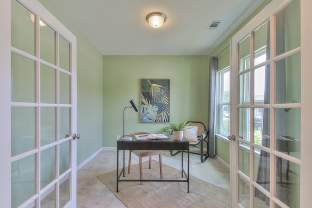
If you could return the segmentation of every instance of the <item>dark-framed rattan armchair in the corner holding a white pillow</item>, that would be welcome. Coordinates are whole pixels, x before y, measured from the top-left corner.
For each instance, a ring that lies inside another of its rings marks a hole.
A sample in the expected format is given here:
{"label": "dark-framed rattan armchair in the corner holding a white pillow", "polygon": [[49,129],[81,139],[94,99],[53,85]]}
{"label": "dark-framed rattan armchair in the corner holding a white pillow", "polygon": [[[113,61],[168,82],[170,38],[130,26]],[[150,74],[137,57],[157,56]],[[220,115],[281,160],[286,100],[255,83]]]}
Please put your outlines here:
{"label": "dark-framed rattan armchair in the corner holding a white pillow", "polygon": [[[190,153],[193,154],[199,154],[200,155],[200,161],[203,163],[207,160],[208,156],[209,156],[209,143],[208,143],[208,135],[209,135],[209,130],[206,129],[206,126],[204,123],[199,122],[199,121],[188,121],[188,126],[197,126],[198,130],[197,130],[197,140],[196,141],[190,141],[190,146],[192,147],[196,147],[200,150],[200,152],[192,152],[190,151]],[[204,151],[204,144],[206,144],[207,146],[207,151]],[[175,156],[177,153],[179,153],[181,151],[176,151],[175,153],[171,150],[170,154],[172,156]]]}

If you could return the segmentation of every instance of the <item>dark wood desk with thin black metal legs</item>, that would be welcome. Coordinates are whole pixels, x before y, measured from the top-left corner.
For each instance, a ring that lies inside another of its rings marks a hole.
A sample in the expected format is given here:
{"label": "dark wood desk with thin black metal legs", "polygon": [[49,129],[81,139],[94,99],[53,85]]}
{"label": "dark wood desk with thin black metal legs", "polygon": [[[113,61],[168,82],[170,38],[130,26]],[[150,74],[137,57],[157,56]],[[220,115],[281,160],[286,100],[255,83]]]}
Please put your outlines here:
{"label": "dark wood desk with thin black metal legs", "polygon": [[[183,137],[181,141],[175,141],[172,135],[169,135],[170,139],[157,139],[157,140],[145,140],[137,141],[134,135],[125,135],[132,136],[131,141],[122,141],[122,138],[117,140],[117,192],[118,192],[118,182],[120,181],[173,181],[173,182],[187,182],[187,192],[190,192],[190,146],[189,140]],[[119,163],[119,150],[123,151],[123,167],[119,173],[118,163]],[[185,175],[185,180],[166,180],[166,179],[155,179],[155,180],[126,180],[120,179],[122,173],[125,177],[125,150],[182,150],[182,163],[181,163],[181,177]],[[183,168],[183,150],[187,151],[187,173]]]}

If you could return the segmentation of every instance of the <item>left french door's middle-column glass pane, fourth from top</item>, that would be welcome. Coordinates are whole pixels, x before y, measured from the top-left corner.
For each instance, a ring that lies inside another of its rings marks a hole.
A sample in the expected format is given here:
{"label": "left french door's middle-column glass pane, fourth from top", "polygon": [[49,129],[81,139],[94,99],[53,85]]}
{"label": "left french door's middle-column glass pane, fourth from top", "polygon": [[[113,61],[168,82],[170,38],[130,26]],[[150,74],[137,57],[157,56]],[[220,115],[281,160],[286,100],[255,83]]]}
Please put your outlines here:
{"label": "left french door's middle-column glass pane, fourth from top", "polygon": [[56,148],[51,147],[40,153],[40,188],[44,188],[55,178]]}

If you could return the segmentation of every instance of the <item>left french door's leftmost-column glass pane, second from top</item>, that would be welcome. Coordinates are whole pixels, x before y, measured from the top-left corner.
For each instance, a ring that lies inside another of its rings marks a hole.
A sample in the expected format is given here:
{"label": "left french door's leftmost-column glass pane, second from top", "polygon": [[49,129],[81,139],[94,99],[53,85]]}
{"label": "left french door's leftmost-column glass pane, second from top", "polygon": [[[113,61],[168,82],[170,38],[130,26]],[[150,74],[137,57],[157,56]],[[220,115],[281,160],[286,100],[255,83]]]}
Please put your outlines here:
{"label": "left french door's leftmost-column glass pane, second from top", "polygon": [[35,61],[11,53],[11,100],[13,102],[36,102]]}

